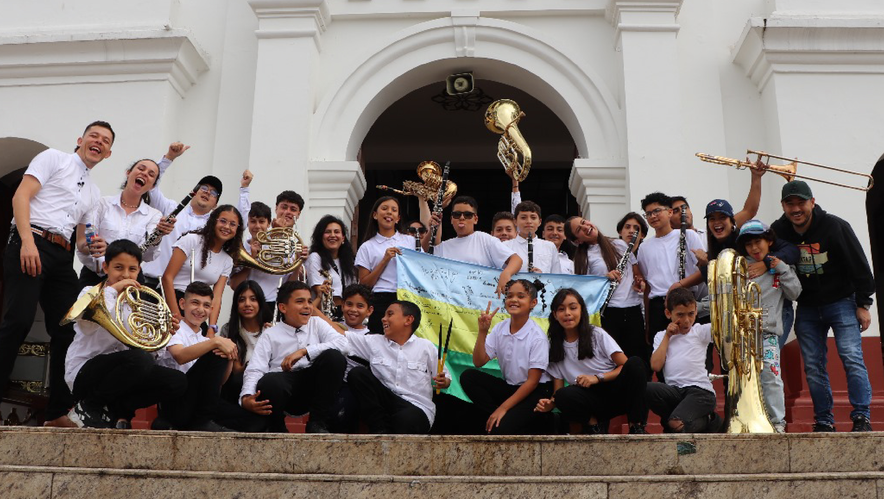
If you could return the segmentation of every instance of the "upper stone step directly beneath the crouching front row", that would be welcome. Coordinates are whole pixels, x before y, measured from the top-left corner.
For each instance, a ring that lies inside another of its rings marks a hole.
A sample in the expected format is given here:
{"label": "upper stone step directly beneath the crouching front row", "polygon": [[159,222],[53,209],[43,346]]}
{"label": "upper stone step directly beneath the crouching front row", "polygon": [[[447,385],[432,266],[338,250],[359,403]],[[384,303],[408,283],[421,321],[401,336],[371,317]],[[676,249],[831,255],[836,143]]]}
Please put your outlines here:
{"label": "upper stone step directly beneath the crouching front row", "polygon": [[402,477],[881,473],[884,433],[492,437],[3,427],[0,465]]}

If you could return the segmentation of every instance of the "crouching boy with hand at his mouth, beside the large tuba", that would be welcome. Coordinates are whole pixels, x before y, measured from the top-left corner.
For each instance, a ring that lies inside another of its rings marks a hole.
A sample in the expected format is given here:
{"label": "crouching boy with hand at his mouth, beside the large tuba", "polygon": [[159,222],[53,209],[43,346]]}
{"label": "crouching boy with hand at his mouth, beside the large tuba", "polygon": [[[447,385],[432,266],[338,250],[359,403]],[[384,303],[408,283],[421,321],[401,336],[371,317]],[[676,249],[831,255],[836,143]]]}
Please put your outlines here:
{"label": "crouching boy with hand at his mouth, beside the large tuba", "polygon": [[706,371],[712,325],[694,323],[697,299],[690,290],[676,288],[666,300],[671,322],[654,336],[651,355],[651,368],[663,371],[666,382],[647,384],[648,407],[667,433],[714,433],[721,419],[715,413],[715,390]]}

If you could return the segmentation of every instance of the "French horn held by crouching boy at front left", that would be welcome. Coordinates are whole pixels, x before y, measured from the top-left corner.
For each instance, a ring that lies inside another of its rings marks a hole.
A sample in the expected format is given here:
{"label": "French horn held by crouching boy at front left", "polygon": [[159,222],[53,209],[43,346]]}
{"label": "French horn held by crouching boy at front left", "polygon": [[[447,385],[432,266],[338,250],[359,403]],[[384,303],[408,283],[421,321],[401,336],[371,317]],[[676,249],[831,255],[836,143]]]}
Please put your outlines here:
{"label": "French horn held by crouching boy at front left", "polygon": [[[172,331],[171,310],[165,299],[147,286],[129,286],[118,294],[114,310],[104,303],[105,284],[83,294],[61,320],[61,325],[85,319],[107,329],[120,343],[154,352],[169,343]],[[124,306],[131,314],[123,320]]]}

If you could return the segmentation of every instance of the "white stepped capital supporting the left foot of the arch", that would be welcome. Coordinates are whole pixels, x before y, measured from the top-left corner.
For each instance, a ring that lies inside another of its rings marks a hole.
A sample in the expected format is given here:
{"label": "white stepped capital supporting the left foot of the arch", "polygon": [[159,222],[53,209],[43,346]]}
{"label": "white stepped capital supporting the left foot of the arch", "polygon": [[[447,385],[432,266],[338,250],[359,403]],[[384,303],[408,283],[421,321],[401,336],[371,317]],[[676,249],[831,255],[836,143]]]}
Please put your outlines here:
{"label": "white stepped capital supporting the left foot of the arch", "polygon": [[[365,175],[359,162],[313,161],[308,163],[307,208],[311,213],[338,215],[344,222],[353,220],[354,210],[365,193]],[[344,195],[341,195],[345,193]],[[318,217],[309,225],[318,222]]]}

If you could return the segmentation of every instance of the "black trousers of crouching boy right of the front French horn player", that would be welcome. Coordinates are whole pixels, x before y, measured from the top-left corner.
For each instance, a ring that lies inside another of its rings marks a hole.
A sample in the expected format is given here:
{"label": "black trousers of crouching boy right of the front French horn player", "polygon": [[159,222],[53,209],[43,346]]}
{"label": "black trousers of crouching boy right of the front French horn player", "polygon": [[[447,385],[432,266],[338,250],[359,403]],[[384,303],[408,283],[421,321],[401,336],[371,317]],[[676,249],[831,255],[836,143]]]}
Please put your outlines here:
{"label": "black trousers of crouching boy right of the front French horn player", "polygon": [[187,392],[184,397],[160,405],[160,416],[173,427],[187,429],[215,418],[221,399],[221,384],[230,360],[215,352],[206,352],[187,369]]}

